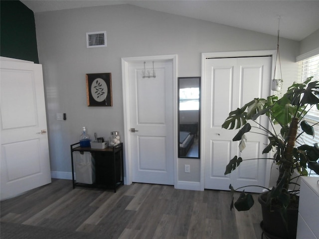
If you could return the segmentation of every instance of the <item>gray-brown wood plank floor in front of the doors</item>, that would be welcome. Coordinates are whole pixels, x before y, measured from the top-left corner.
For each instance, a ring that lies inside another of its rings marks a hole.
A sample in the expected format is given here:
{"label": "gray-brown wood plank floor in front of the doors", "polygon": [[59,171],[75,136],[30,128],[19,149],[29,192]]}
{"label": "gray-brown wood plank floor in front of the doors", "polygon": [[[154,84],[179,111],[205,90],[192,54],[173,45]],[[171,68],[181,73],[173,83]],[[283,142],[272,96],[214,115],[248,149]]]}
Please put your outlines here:
{"label": "gray-brown wood plank floor in front of the doors", "polygon": [[231,212],[229,202],[224,191],[134,183],[113,193],[72,189],[72,181],[53,179],[2,201],[0,221],[85,232],[88,238],[260,239],[257,200],[248,212]]}

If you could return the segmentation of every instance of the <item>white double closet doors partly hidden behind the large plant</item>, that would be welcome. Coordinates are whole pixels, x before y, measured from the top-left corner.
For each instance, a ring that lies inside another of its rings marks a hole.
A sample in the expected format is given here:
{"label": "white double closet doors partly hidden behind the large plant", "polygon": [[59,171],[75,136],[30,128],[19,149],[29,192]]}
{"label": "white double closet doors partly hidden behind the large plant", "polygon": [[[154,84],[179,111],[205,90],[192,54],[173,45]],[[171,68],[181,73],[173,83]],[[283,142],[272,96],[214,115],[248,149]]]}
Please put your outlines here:
{"label": "white double closet doors partly hidden behind the large plant", "polygon": [[[221,125],[230,111],[254,98],[270,95],[271,65],[271,56],[205,60],[205,188],[228,190],[230,183],[234,188],[265,186],[267,160],[249,160],[231,174],[224,176],[224,172],[235,155],[243,159],[265,157],[262,150],[268,143],[267,138],[259,134],[247,135],[246,148],[240,152],[238,142],[232,141],[237,131],[222,129]],[[267,125],[267,120],[262,124]],[[260,192],[261,189],[255,187],[245,191]]]}

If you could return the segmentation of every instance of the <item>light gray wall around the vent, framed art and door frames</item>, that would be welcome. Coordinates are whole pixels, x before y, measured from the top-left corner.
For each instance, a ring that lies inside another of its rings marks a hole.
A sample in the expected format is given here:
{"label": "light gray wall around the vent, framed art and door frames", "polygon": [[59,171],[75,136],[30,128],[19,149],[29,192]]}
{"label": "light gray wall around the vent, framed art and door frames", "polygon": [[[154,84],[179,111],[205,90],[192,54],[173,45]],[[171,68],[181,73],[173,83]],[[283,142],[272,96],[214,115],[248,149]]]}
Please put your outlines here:
{"label": "light gray wall around the vent, framed art and door frames", "polygon": [[[91,135],[123,139],[121,57],[178,55],[178,77],[201,76],[201,53],[274,50],[277,37],[166,14],[132,5],[35,13],[39,61],[43,65],[51,170],[71,171],[69,145],[82,126]],[[86,32],[107,32],[107,47],[86,48]],[[274,33],[276,34],[276,29]],[[284,89],[297,78],[300,43],[280,39]],[[113,107],[87,107],[86,73],[112,73]],[[66,113],[57,121],[56,113]],[[187,162],[186,162],[187,161]],[[191,173],[183,173],[183,165]],[[178,179],[200,181],[200,160],[179,159]]]}

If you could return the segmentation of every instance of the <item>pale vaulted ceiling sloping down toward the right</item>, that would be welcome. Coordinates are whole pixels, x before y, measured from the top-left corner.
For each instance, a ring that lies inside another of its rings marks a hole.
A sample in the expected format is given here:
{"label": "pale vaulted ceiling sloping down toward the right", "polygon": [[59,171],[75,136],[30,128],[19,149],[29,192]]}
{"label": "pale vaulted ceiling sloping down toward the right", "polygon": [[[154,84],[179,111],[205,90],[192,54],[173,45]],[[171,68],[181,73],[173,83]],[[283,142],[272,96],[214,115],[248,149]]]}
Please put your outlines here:
{"label": "pale vaulted ceiling sloping down toward the right", "polygon": [[[319,29],[319,0],[21,0],[33,12],[132,4],[302,40]],[[280,19],[279,19],[280,18]],[[318,39],[319,40],[319,39]]]}

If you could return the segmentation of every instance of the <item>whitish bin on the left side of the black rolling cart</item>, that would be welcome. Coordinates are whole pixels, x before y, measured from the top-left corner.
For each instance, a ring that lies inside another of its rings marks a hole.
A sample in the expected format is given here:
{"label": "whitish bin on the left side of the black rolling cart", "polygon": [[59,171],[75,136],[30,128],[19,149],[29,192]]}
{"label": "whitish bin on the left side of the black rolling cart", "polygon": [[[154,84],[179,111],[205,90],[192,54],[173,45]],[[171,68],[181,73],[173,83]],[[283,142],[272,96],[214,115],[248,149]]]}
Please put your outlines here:
{"label": "whitish bin on the left side of the black rolling cart", "polygon": [[93,184],[95,182],[95,161],[90,152],[73,152],[75,180],[77,183]]}

